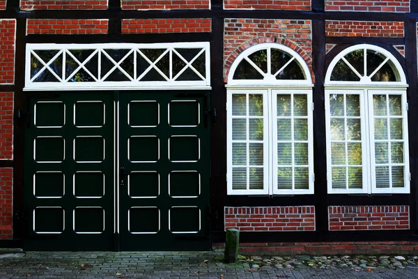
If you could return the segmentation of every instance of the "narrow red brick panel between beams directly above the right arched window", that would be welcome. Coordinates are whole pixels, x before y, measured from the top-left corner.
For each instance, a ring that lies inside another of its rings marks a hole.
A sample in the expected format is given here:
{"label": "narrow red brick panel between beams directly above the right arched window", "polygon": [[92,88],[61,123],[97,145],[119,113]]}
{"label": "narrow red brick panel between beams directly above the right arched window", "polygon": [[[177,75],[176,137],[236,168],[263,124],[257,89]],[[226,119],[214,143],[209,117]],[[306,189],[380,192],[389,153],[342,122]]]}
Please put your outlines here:
{"label": "narrow red brick panel between beams directly above the right arched window", "polygon": [[403,38],[403,22],[325,20],[325,36]]}

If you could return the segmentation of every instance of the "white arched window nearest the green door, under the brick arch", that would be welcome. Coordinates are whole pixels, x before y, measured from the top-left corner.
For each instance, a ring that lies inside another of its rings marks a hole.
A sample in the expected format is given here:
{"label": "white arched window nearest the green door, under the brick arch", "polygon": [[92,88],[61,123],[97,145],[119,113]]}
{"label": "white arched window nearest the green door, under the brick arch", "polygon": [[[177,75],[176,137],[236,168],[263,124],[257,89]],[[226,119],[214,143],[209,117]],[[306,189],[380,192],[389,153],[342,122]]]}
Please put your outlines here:
{"label": "white arched window nearest the green door, under the brick arch", "polygon": [[[263,70],[249,58],[259,51],[266,54]],[[288,57],[276,70],[272,52]],[[244,60],[263,79],[235,80]],[[293,61],[303,79],[277,80]],[[284,45],[262,43],[235,59],[226,85],[228,195],[314,193],[312,86],[305,61]]]}

